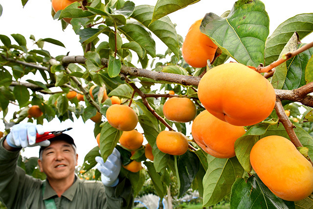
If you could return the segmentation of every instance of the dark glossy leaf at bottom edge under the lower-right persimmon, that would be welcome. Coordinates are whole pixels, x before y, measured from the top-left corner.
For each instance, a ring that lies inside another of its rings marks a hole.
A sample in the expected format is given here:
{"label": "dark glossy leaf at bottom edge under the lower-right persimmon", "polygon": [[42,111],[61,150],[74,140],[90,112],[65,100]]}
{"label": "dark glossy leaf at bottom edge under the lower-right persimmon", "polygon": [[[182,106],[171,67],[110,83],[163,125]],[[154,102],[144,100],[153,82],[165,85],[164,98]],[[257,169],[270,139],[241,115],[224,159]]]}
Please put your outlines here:
{"label": "dark glossy leaf at bottom edge under the lower-right persimmon", "polygon": [[231,188],[230,209],[294,209],[294,203],[274,195],[255,175],[237,178]]}

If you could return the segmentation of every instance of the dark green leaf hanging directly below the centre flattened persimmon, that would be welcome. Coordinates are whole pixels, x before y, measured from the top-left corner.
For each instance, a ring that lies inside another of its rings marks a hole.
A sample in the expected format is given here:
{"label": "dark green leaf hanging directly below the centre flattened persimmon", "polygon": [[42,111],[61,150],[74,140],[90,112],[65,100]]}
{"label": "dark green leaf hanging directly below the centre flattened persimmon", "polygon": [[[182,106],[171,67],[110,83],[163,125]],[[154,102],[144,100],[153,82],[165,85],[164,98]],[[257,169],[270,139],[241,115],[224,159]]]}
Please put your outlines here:
{"label": "dark green leaf hanging directly below the centre flattened persimmon", "polygon": [[195,153],[190,151],[175,157],[177,158],[176,176],[179,185],[178,198],[180,198],[190,188],[191,183],[196,178],[199,170],[199,159]]}

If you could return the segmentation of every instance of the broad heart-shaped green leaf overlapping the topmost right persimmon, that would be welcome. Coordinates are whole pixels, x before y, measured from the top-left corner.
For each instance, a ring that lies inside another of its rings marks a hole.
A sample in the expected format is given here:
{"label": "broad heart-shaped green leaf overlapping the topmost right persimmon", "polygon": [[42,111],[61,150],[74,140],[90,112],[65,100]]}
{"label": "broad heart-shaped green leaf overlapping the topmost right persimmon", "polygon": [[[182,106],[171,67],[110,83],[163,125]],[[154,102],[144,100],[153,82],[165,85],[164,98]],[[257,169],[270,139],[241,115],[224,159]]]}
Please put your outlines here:
{"label": "broad heart-shaped green leaf overlapping the topmost right persimmon", "polygon": [[254,67],[264,63],[269,18],[262,1],[239,0],[225,18],[208,13],[200,30],[239,63]]}

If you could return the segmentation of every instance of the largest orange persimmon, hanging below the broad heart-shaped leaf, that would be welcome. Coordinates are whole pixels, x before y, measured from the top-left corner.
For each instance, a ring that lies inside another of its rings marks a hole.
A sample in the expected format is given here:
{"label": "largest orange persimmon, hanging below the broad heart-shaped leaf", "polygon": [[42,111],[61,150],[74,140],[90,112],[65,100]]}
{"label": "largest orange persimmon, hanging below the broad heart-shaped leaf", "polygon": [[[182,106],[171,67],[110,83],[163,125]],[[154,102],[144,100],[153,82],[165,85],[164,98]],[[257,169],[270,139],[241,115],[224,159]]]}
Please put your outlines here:
{"label": "largest orange persimmon, hanging below the broad heart-shaped leaf", "polygon": [[254,125],[272,112],[276,95],[260,73],[239,63],[226,63],[207,71],[198,86],[207,111],[232,125]]}

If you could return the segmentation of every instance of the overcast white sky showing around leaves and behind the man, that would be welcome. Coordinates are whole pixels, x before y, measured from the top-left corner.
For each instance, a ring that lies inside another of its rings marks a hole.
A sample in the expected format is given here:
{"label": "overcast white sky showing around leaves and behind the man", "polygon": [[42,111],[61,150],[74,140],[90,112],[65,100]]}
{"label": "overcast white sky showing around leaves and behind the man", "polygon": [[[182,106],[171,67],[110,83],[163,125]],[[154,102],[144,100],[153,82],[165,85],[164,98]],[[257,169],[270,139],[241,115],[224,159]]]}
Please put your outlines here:
{"label": "overcast white sky showing around leaves and behind the man", "polygon": [[[155,5],[157,0],[133,0],[135,5],[150,4]],[[230,10],[235,0],[201,0],[193,5],[183,8],[175,13],[169,15],[173,23],[177,24],[177,32],[183,38],[185,37],[190,25],[196,20],[204,17],[206,13],[213,12],[217,15],[222,15],[225,11]],[[270,20],[270,33],[282,22],[300,13],[312,13],[312,0],[263,0],[266,11],[268,12]],[[79,37],[73,32],[69,25],[65,31],[62,30],[61,23],[53,20],[51,16],[50,0],[28,0],[25,7],[22,7],[21,0],[0,0],[3,7],[2,16],[0,17],[0,34],[22,34],[28,43],[28,47],[36,49],[32,46],[29,36],[32,34],[36,40],[39,38],[53,38],[61,41],[66,48],[46,44],[44,49],[50,51],[52,56],[66,54],[69,55],[83,55],[82,47],[79,43]],[[13,39],[11,39],[14,42]],[[312,35],[303,40],[304,43],[312,42]],[[156,42],[156,52],[164,53],[166,47]],[[0,118],[2,118],[0,113]],[[9,118],[6,118],[9,120]],[[79,154],[79,165],[84,161],[84,156],[91,148],[97,145],[93,136],[94,123],[87,121],[83,123],[79,118],[72,121],[66,121],[60,124],[59,120],[52,122],[45,122],[46,131],[61,130],[67,127],[73,127],[67,134],[71,135],[77,145],[77,152]],[[0,131],[4,131],[3,123],[0,123]],[[188,136],[188,134],[187,134]],[[27,148],[23,153],[24,156],[38,156],[38,147]]]}

